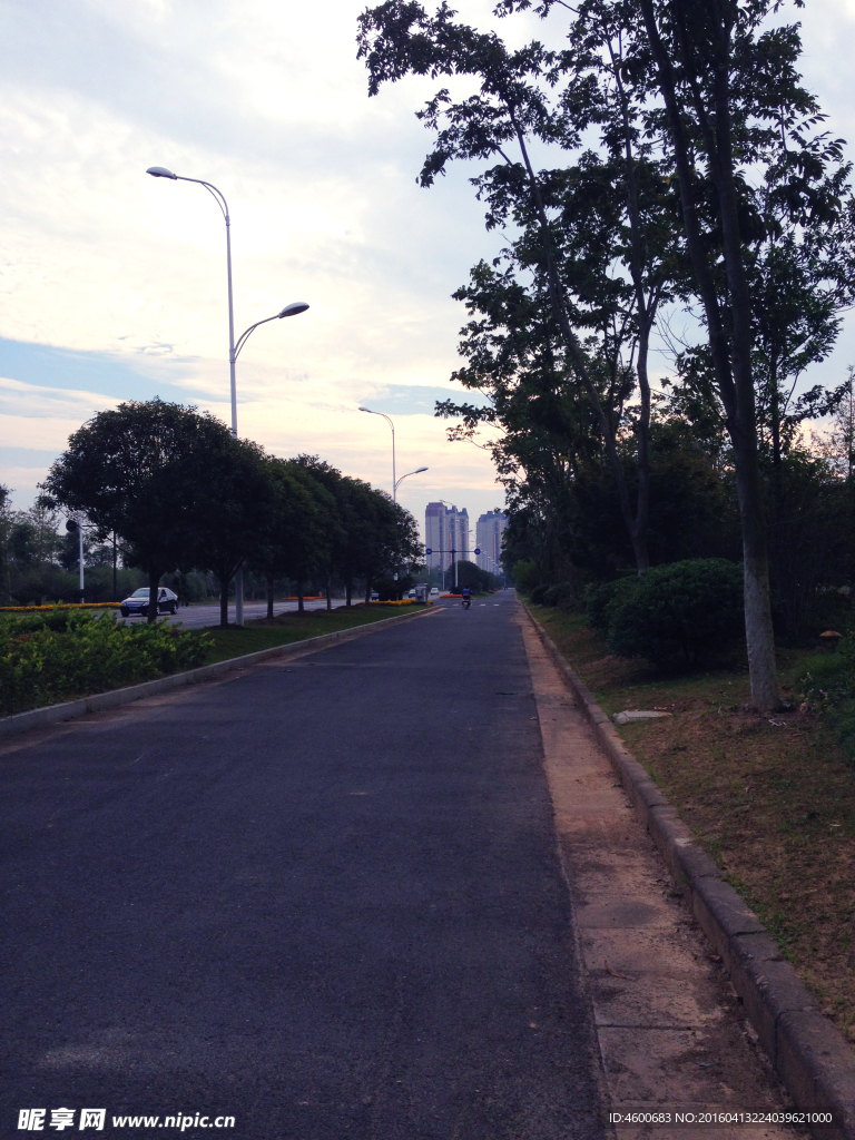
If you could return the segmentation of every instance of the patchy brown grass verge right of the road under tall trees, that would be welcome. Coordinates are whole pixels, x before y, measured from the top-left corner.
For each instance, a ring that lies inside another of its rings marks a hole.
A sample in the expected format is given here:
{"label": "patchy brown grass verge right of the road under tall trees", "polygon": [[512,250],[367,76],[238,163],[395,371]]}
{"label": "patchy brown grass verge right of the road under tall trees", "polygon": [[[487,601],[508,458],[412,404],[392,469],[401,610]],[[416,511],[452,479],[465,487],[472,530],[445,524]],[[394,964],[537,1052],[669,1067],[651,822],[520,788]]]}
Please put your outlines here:
{"label": "patchy brown grass verge right of the road under tall trees", "polygon": [[529,606],[725,878],[855,1042],[855,767],[822,714],[799,711],[807,651],[779,653],[784,701],[750,707],[747,667],[668,675],[611,656],[579,614]]}

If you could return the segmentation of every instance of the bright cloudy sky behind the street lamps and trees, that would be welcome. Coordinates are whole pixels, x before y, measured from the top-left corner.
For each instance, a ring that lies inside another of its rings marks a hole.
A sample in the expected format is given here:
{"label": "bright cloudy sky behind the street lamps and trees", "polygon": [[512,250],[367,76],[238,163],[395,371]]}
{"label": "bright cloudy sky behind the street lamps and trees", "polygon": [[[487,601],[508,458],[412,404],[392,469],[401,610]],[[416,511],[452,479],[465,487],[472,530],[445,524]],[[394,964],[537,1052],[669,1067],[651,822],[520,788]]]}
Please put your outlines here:
{"label": "bright cloudy sky behind the street lamps and trees", "polygon": [[[494,0],[459,0],[494,23]],[[0,482],[28,506],[70,432],[122,399],[193,402],[229,418],[225,227],[235,323],[264,325],[238,361],[238,431],[277,455],[310,451],[390,488],[423,521],[434,498],[502,505],[491,464],[450,445],[433,401],[455,392],[451,300],[500,238],[484,233],[463,169],[415,176],[429,81],[366,95],[356,0],[0,0]],[[807,0],[805,74],[855,146],[846,44],[855,0]],[[514,42],[556,41],[534,17]],[[855,360],[847,325],[815,378]],[[459,392],[459,388],[457,388]]]}

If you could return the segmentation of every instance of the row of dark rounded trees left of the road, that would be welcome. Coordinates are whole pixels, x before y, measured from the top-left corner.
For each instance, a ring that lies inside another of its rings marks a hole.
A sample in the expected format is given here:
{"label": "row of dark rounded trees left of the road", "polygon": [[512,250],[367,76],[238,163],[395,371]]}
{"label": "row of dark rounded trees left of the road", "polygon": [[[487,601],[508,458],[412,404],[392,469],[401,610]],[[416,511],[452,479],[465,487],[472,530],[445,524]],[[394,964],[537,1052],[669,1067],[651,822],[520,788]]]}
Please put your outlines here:
{"label": "row of dark rounded trees left of the road", "polygon": [[99,413],[71,437],[31,511],[7,504],[0,488],[0,594],[18,604],[76,597],[79,538],[57,532],[60,512],[83,516],[88,601],[141,583],[185,601],[215,589],[223,624],[241,569],[269,608],[282,588],[301,598],[339,588],[350,605],[357,588],[368,597],[388,580],[400,592],[422,549],[415,519],[384,491],[315,456],[268,455],[160,399]]}

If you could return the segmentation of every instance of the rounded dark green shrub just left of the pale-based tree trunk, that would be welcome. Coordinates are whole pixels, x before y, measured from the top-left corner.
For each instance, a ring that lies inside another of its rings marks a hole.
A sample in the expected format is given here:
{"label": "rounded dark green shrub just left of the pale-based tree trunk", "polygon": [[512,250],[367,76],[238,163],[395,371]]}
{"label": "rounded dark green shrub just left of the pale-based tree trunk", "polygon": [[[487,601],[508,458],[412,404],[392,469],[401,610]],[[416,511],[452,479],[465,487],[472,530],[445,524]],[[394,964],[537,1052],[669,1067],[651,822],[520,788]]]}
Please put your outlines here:
{"label": "rounded dark green shrub just left of the pale-based tree trunk", "polygon": [[725,559],[652,567],[604,606],[606,643],[619,657],[697,665],[743,633],[742,568]]}

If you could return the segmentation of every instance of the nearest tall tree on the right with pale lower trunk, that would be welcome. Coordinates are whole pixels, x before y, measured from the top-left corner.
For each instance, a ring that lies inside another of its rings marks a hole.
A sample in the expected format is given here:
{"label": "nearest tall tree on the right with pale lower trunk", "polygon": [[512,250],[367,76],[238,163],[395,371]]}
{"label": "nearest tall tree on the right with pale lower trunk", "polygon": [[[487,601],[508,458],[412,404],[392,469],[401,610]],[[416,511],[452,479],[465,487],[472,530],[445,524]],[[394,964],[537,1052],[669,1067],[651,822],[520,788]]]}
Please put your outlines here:
{"label": "nearest tall tree on the right with pale lower trunk", "polygon": [[[825,170],[840,142],[809,137],[822,117],[800,85],[798,28],[764,28],[768,0],[641,0],[636,59],[652,59],[651,116],[674,155],[682,218],[707,327],[716,390],[733,446],[742,526],[744,612],[751,694],[780,702],[754,376],[756,329],[750,249],[762,212],[746,169],[774,181],[793,219],[823,225],[839,209]],[[657,121],[658,120],[658,121]],[[707,225],[705,225],[707,222]],[[711,249],[715,256],[710,256]]]}

